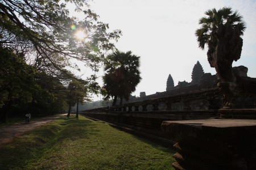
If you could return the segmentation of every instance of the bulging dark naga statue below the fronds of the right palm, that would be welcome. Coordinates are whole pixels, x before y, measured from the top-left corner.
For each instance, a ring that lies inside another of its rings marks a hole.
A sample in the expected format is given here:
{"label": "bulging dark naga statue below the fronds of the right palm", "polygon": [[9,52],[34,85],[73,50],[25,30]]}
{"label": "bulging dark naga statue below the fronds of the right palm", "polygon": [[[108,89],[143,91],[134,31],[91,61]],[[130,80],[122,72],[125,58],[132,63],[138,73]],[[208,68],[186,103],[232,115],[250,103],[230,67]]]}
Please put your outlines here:
{"label": "bulging dark naga statue below the fronds of the right palm", "polygon": [[236,82],[232,63],[240,59],[243,40],[240,29],[230,25],[218,25],[217,36],[211,37],[207,52],[211,67],[215,67],[221,82]]}

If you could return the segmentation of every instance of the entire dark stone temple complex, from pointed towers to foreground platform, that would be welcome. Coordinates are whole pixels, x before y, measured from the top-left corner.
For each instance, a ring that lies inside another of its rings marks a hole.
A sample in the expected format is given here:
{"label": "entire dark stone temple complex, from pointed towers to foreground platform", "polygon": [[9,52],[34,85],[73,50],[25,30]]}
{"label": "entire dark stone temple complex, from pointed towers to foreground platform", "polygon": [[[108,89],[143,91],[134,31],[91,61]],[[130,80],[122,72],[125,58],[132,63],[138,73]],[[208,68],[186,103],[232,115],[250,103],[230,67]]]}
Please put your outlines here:
{"label": "entire dark stone temple complex, from pointed towers to foreground platform", "polygon": [[177,151],[176,170],[256,169],[256,78],[247,76],[245,66],[226,70],[232,72],[232,82],[221,80],[227,76],[220,72],[204,73],[197,62],[190,83],[174,86],[169,75],[164,92],[141,92],[122,107],[80,114],[169,142]]}

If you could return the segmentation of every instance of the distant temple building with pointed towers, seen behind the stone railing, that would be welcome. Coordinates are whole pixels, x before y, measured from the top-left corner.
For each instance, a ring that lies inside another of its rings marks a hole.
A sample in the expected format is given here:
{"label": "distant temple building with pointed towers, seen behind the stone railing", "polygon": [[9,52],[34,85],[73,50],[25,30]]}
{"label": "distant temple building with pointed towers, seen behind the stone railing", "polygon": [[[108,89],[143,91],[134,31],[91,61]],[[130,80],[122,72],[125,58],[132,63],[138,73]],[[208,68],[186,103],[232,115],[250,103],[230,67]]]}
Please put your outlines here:
{"label": "distant temple building with pointed towers, seen behind the stone railing", "polygon": [[[242,78],[245,78],[247,80],[251,80],[251,79],[255,80],[255,78],[250,78],[247,76],[248,69],[245,66],[233,67],[233,70]],[[167,97],[172,95],[176,96],[176,95],[183,95],[191,92],[204,91],[210,88],[217,87],[217,83],[220,82],[220,80],[218,80],[217,74],[212,75],[210,73],[204,73],[203,67],[201,66],[199,61],[197,61],[197,63],[193,67],[191,78],[192,78],[191,82],[186,82],[185,80],[183,82],[179,81],[177,86],[174,86],[174,80],[172,79],[171,74],[169,74],[167,83],[166,83],[166,91],[156,92],[156,94],[152,94],[152,95],[146,95],[146,92],[141,92],[139,97],[131,96],[129,102],[156,99],[156,98]],[[209,108],[208,100],[193,101],[193,103],[191,103],[191,108],[192,110],[222,108],[221,97],[214,99],[212,102],[214,104],[211,104],[211,107]],[[240,108],[240,109],[255,108],[255,103],[256,103],[255,96],[238,97],[234,102],[233,108]],[[184,108],[183,103],[172,104],[173,110],[181,110],[183,108]],[[164,109],[164,106],[162,107],[162,109]]]}

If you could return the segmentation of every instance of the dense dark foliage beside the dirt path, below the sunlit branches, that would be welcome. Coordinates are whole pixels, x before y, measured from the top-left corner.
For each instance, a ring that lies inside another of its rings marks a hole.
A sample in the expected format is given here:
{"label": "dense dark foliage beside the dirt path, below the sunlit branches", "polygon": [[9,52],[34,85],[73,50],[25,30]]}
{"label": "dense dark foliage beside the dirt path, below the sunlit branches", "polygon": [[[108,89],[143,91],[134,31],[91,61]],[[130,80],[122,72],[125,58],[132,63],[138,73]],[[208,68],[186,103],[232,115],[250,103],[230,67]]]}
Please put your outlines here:
{"label": "dense dark foliage beside the dirt path, below the sunlit branches", "polygon": [[0,45],[0,120],[12,114],[63,113],[67,88],[60,80],[27,65],[20,54]]}

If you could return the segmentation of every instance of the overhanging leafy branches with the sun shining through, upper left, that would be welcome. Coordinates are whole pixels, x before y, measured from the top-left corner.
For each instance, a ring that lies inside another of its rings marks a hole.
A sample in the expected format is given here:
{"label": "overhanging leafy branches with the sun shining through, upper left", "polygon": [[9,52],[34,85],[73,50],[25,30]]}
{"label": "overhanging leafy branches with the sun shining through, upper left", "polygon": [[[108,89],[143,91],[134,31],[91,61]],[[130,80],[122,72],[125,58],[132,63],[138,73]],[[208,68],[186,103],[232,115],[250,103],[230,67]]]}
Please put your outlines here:
{"label": "overhanging leafy branches with the sun shining through, upper left", "polygon": [[[34,60],[37,68],[47,73],[60,71],[71,76],[67,67],[77,68],[74,59],[97,71],[103,52],[114,47],[110,40],[117,40],[121,31],[108,32],[108,24],[98,21],[99,16],[90,10],[88,2],[0,1],[0,44],[23,53],[24,58]],[[71,3],[80,15],[84,14],[83,20],[71,16]]]}

